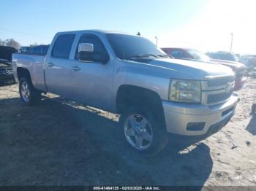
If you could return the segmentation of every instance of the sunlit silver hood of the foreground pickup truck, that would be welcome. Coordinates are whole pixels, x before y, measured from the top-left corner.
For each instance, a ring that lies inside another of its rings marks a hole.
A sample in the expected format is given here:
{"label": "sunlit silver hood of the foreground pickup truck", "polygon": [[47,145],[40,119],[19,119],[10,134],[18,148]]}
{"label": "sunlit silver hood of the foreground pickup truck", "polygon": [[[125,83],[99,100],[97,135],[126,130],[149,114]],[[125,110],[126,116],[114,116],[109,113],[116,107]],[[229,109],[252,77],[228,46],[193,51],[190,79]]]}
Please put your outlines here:
{"label": "sunlit silver hood of the foreground pickup truck", "polygon": [[[141,62],[141,61],[140,61]],[[216,63],[187,61],[175,58],[154,59],[146,62],[147,65],[159,66],[179,73],[186,73],[192,79],[206,79],[206,77],[220,77],[234,75],[232,69]]]}

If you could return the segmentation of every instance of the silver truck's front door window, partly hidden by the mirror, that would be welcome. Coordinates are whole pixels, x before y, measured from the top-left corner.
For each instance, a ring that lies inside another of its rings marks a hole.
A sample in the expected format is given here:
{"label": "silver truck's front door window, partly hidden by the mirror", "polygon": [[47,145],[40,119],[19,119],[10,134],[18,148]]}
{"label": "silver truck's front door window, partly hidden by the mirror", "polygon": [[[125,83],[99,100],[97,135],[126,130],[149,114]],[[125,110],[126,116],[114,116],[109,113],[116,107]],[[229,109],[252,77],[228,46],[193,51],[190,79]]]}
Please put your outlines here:
{"label": "silver truck's front door window, partly hidden by the mirror", "polygon": [[[104,45],[102,44],[101,40],[94,35],[83,35],[80,37],[79,43],[91,43],[94,44],[94,59],[99,60],[102,58],[102,55],[108,55],[107,51],[105,50]],[[75,54],[75,58],[78,60],[78,49]]]}

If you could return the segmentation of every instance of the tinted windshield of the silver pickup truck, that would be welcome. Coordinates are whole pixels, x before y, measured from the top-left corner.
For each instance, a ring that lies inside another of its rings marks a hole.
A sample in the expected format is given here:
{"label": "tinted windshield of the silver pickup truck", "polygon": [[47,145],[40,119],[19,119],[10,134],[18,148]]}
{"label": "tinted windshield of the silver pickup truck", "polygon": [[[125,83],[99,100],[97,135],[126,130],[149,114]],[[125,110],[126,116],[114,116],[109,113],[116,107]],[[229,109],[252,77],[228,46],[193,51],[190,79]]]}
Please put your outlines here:
{"label": "tinted windshield of the silver pickup truck", "polygon": [[106,36],[116,56],[120,59],[125,60],[138,55],[166,55],[153,42],[140,36],[127,34],[106,34]]}

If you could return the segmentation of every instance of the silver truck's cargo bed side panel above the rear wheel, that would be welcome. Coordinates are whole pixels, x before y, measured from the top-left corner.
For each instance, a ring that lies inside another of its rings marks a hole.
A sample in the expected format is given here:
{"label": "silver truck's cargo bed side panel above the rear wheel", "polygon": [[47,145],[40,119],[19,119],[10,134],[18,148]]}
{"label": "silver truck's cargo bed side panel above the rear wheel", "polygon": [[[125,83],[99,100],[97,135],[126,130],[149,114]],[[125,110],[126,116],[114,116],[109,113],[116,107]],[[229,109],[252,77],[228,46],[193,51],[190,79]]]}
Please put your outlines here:
{"label": "silver truck's cargo bed side panel above the rear wheel", "polygon": [[45,85],[45,63],[46,55],[31,55],[23,53],[12,54],[12,70],[17,79],[19,68],[27,69],[31,74],[31,81],[37,90],[46,91]]}

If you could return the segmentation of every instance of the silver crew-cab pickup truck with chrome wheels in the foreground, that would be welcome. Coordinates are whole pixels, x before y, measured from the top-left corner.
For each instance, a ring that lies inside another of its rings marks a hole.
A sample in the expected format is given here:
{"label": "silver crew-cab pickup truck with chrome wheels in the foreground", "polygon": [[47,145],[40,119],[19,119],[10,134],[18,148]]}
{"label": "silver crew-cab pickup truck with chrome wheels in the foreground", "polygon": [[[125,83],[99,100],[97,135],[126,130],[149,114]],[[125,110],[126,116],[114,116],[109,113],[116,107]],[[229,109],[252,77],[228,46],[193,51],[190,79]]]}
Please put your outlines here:
{"label": "silver crew-cab pickup truck with chrome wheels in the foreground", "polygon": [[121,114],[139,152],[158,152],[169,134],[216,133],[238,102],[227,66],[174,59],[148,39],[112,31],[58,33],[47,55],[15,53],[12,68],[25,104],[50,92]]}

